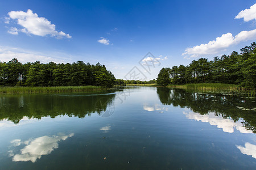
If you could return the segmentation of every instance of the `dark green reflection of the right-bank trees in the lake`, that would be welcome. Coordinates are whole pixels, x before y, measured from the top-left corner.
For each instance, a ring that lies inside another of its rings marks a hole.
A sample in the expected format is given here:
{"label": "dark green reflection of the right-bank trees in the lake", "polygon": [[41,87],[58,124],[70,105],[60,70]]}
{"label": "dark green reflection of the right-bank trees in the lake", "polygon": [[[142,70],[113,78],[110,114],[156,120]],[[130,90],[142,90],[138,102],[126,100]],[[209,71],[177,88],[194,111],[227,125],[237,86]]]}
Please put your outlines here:
{"label": "dark green reflection of the right-bank trees in the lake", "polygon": [[255,99],[225,93],[189,92],[183,89],[157,88],[158,97],[163,105],[188,107],[201,115],[214,112],[215,116],[232,118],[247,130],[256,133]]}

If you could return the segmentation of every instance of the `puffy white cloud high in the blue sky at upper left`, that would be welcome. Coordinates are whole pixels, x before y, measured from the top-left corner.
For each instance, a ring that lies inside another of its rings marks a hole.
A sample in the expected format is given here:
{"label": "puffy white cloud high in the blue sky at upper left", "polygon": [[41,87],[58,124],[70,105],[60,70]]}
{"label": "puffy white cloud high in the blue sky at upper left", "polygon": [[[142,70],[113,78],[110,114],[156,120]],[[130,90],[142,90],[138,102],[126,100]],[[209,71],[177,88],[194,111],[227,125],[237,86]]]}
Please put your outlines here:
{"label": "puffy white cloud high in the blue sky at upper left", "polygon": [[10,11],[8,15],[11,19],[17,20],[17,24],[23,27],[20,31],[27,33],[28,35],[52,36],[57,39],[63,37],[68,39],[71,38],[69,34],[66,34],[63,31],[56,31],[55,24],[51,24],[46,18],[38,17],[38,14],[34,14],[32,10],[27,10],[27,12]]}

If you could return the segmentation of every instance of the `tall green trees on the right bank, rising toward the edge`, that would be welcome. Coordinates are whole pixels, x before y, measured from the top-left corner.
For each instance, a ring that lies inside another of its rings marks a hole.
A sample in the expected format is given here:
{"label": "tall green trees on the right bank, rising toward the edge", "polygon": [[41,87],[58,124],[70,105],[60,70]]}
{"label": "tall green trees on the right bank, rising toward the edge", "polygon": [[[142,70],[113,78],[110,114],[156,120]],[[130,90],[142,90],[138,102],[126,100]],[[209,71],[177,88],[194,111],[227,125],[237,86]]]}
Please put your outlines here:
{"label": "tall green trees on the right bank, rising toward the edge", "polygon": [[256,88],[256,43],[245,46],[241,53],[193,60],[188,66],[163,68],[156,83],[160,86],[187,83],[227,83]]}

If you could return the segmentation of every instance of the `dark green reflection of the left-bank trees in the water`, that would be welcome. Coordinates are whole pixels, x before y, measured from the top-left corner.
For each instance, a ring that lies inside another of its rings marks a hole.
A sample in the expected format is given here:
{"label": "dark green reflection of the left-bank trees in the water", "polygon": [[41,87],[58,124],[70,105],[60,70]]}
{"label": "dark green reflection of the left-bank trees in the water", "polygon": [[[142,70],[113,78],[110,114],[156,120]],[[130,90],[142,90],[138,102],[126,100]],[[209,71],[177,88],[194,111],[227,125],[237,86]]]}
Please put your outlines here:
{"label": "dark green reflection of the left-bank trees in the water", "polygon": [[[115,94],[55,94],[55,95],[2,95],[0,96],[0,120],[18,124],[23,117],[56,116],[86,117],[92,113],[103,114],[113,105]],[[101,103],[97,101],[101,101]]]}

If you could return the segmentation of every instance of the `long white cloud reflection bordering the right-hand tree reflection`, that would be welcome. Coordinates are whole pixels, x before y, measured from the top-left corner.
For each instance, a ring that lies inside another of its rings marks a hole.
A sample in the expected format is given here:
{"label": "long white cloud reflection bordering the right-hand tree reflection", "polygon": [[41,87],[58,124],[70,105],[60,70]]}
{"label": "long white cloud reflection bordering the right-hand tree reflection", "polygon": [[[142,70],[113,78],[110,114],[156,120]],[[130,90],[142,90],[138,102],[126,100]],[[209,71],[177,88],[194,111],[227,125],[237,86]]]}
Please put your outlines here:
{"label": "long white cloud reflection bordering the right-hand tree reflection", "polygon": [[241,120],[234,122],[229,118],[222,118],[222,116],[215,116],[214,112],[208,112],[208,114],[201,115],[199,113],[195,113],[192,111],[185,111],[183,114],[186,115],[188,119],[209,122],[210,125],[215,125],[217,128],[221,128],[223,131],[228,133],[233,133],[234,128],[239,130],[241,133],[253,133],[251,130],[246,130],[245,127],[242,126]]}

